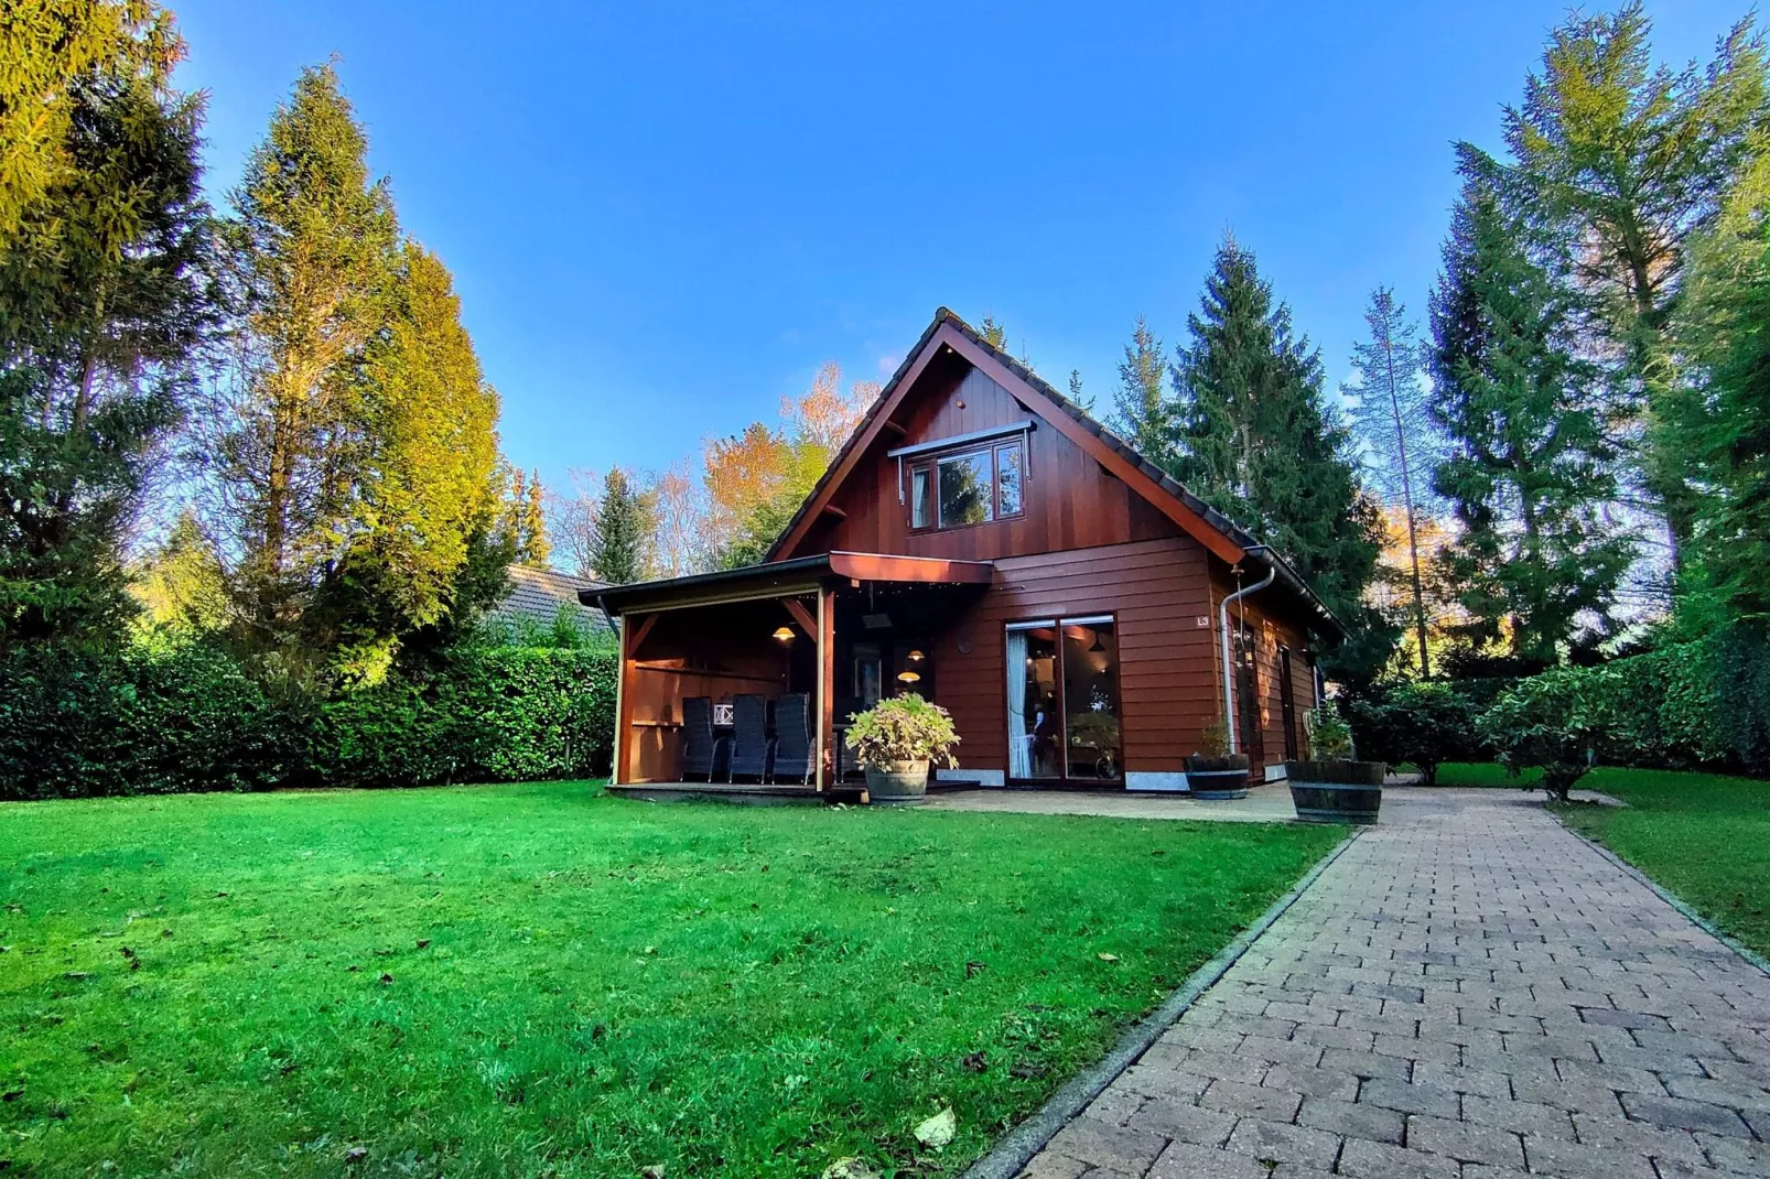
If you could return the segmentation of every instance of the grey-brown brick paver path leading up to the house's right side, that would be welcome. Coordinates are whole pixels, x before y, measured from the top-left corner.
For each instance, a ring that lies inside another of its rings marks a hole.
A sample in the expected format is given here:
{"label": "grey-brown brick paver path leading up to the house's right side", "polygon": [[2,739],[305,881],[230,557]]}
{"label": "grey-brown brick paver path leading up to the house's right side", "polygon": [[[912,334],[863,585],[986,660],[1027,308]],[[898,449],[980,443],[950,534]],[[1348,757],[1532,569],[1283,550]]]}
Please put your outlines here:
{"label": "grey-brown brick paver path leading up to the house's right side", "polygon": [[1770,1175],[1770,979],[1517,791],[1384,820],[1025,1175]]}

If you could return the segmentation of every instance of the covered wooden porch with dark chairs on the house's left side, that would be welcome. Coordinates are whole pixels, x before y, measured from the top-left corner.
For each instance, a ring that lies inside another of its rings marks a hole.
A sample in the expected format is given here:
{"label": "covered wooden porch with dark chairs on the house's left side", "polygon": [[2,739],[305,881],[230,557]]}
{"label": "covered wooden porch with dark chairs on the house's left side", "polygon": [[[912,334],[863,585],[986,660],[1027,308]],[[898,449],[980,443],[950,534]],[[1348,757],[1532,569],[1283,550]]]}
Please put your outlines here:
{"label": "covered wooden porch with dark chairs on the house's left side", "polygon": [[858,775],[841,747],[850,713],[933,697],[935,641],[993,575],[988,561],[827,552],[584,591],[620,618],[611,791],[834,795]]}

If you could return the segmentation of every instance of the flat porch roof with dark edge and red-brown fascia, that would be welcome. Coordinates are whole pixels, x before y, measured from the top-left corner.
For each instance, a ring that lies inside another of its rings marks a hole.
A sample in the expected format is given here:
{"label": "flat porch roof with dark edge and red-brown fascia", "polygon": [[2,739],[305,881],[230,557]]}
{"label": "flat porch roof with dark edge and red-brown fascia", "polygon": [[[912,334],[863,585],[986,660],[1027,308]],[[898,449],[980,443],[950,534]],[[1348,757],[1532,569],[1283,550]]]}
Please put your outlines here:
{"label": "flat porch roof with dark edge and red-brown fascia", "polygon": [[715,574],[635,581],[625,586],[595,586],[581,590],[577,598],[584,605],[616,616],[635,611],[791,597],[811,593],[830,579],[988,586],[993,577],[995,565],[991,561],[945,561],[887,552],[818,552],[791,561],[765,561]]}

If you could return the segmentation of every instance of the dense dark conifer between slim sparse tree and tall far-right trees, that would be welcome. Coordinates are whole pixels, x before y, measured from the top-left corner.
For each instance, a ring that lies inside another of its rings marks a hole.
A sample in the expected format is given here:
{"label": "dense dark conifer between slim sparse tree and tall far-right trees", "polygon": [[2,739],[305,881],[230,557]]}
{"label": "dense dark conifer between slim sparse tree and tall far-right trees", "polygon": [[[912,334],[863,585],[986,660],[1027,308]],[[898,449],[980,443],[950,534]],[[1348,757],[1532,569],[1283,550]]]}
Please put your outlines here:
{"label": "dense dark conifer between slim sparse tree and tall far-right trees", "polygon": [[1448,435],[1435,489],[1460,529],[1444,556],[1474,648],[1552,664],[1609,614],[1632,545],[1602,519],[1616,494],[1600,374],[1575,358],[1572,299],[1536,266],[1494,163],[1464,149],[1466,184],[1432,297],[1432,414]]}

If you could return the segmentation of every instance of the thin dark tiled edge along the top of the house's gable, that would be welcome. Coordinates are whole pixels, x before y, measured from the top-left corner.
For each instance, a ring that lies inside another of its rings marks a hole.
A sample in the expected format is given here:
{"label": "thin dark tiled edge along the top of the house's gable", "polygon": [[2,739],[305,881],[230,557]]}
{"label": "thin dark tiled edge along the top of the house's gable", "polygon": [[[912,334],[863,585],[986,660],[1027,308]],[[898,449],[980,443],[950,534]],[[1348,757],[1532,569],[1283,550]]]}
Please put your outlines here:
{"label": "thin dark tiled edge along the top of the house's gable", "polygon": [[1048,398],[1064,416],[1067,416],[1071,421],[1074,421],[1083,430],[1092,434],[1112,453],[1129,462],[1140,474],[1154,482],[1163,492],[1166,492],[1179,505],[1182,505],[1188,510],[1188,513],[1198,517],[1211,529],[1216,529],[1216,533],[1220,533],[1230,543],[1234,543],[1235,549],[1241,549],[1248,559],[1264,566],[1271,566],[1276,572],[1278,581],[1287,590],[1301,597],[1303,602],[1317,614],[1319,621],[1328,630],[1340,636],[1345,634],[1345,627],[1340,623],[1338,618],[1333,616],[1333,611],[1329,611],[1328,605],[1319,597],[1315,597],[1315,591],[1310,590],[1308,582],[1303,581],[1303,577],[1294,568],[1290,568],[1290,563],[1285,561],[1285,558],[1280,552],[1276,552],[1271,545],[1260,543],[1260,540],[1255,538],[1253,533],[1235,524],[1232,519],[1228,519],[1227,515],[1207,505],[1204,499],[1195,496],[1191,490],[1188,490],[1172,474],[1168,474],[1154,462],[1140,455],[1135,446],[1131,446],[1127,441],[1108,430],[1104,425],[1089,416],[1085,409],[1081,409],[1073,400],[1069,400],[1055,388],[1051,388],[1051,384],[1046,382],[1044,377],[1032,372],[1023,363],[1020,363],[1002,349],[984,340],[981,335],[977,335],[977,331],[970,324],[954,315],[950,308],[940,308],[935,312],[933,322],[929,322],[929,326],[922,331],[920,338],[915,342],[915,347],[912,347],[904,354],[903,363],[897,365],[897,372],[894,372],[890,381],[885,382],[885,388],[880,389],[878,398],[873,402],[871,407],[867,407],[867,412],[860,418],[853,432],[848,435],[848,441],[843,443],[843,448],[830,460],[830,466],[825,469],[816,487],[811,489],[811,494],[805,496],[805,501],[798,506],[798,512],[793,513],[793,519],[781,531],[779,540],[775,540],[775,543],[768,551],[770,558],[773,558],[775,552],[786,547],[788,540],[793,538],[802,529],[805,515],[812,510],[812,505],[818,505],[820,499],[823,499],[825,490],[830,489],[830,482],[835,478],[835,473],[843,469],[843,466],[846,464],[850,451],[853,451],[855,446],[862,443],[862,439],[871,439],[876,434],[876,430],[873,428],[874,420],[881,412],[885,412],[887,405],[896,404],[894,393],[897,391],[897,386],[912,374],[912,370],[919,370],[917,358],[922,354],[924,349],[929,347],[935,335],[945,324],[950,324],[954,331],[965,336],[965,340],[982,349],[986,356],[993,358],[997,363],[1007,368],[1014,377],[1023,381],[1034,393]]}

